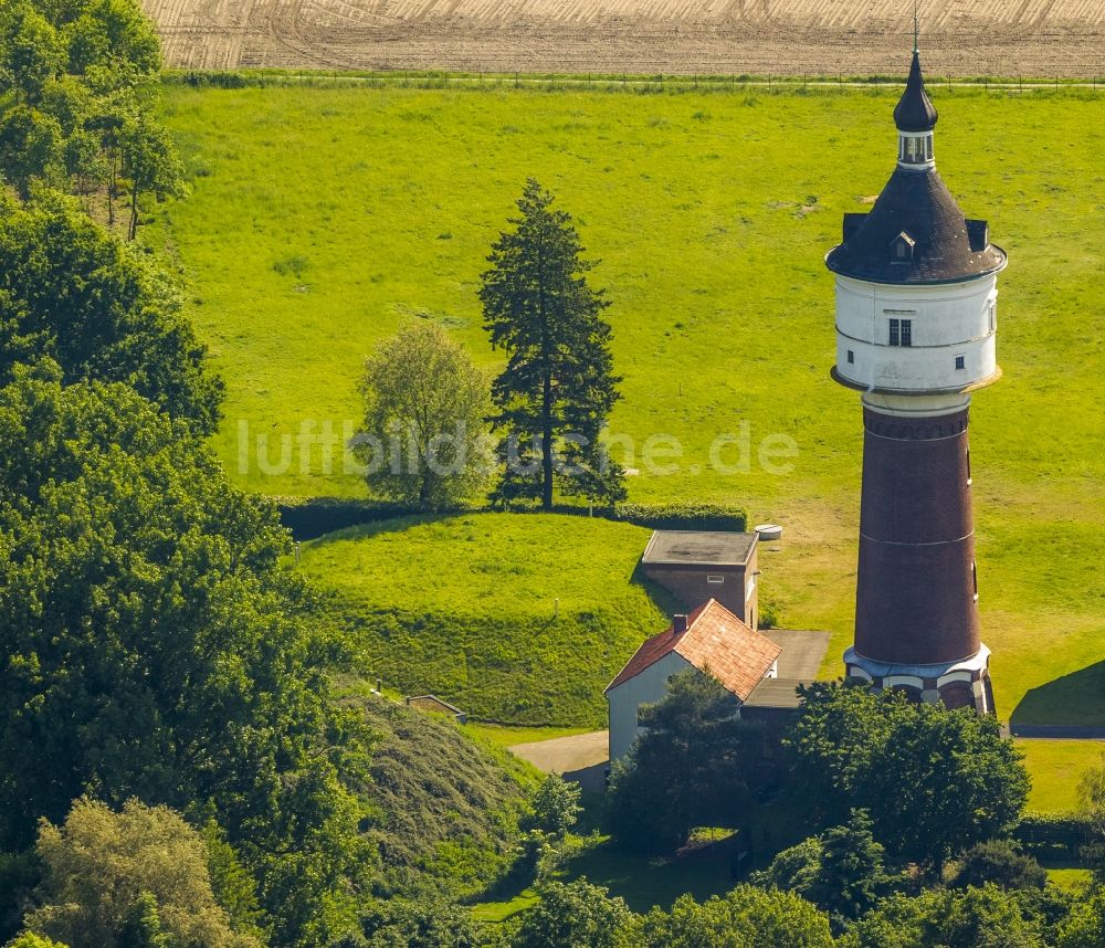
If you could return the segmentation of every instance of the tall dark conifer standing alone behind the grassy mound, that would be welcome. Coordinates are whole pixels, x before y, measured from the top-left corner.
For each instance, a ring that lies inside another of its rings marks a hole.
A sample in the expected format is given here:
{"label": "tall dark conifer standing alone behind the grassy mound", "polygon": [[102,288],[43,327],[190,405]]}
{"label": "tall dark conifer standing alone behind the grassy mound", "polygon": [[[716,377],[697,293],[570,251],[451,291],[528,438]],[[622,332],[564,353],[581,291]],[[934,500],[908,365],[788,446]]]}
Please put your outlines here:
{"label": "tall dark conifer standing alone behind the grassy mound", "polygon": [[579,234],[552,194],[533,178],[518,200],[515,230],[492,247],[480,298],[492,345],[507,364],[492,387],[505,471],[493,498],[561,493],[593,501],[624,497],[622,471],[600,433],[618,400],[610,355],[609,306],[587,283]]}

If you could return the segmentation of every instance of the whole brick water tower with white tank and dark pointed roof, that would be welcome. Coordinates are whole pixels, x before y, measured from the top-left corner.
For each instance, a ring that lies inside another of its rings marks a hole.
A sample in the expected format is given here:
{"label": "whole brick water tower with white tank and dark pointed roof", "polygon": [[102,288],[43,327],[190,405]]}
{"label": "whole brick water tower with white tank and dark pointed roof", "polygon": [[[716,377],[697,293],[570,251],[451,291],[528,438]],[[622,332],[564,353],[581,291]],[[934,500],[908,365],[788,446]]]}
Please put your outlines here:
{"label": "whole brick water tower with white tank and dark pointed roof", "polygon": [[914,44],[894,109],[897,167],[870,213],[845,214],[832,377],[862,392],[863,489],[850,677],[993,712],[979,638],[967,422],[996,382],[1004,252],[936,170],[936,109]]}

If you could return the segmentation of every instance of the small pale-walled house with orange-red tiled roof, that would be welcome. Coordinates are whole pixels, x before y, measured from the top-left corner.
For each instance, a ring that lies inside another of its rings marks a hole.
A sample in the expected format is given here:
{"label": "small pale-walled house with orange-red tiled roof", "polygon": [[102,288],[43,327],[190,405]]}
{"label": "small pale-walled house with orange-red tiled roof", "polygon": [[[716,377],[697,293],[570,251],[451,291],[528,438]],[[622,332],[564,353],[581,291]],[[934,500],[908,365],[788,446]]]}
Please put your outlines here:
{"label": "small pale-walled house with orange-red tiled roof", "polygon": [[624,757],[643,728],[641,705],[667,693],[667,681],[694,668],[709,672],[744,704],[765,680],[778,675],[782,649],[750,629],[716,599],[690,615],[676,615],[663,632],[645,640],[607,686],[610,760]]}

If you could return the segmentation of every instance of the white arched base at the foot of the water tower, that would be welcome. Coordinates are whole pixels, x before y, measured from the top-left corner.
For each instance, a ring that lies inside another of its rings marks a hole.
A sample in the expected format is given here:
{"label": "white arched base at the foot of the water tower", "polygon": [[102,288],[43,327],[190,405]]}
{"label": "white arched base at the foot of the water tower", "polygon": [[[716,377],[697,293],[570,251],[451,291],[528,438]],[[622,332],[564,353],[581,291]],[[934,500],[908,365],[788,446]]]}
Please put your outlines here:
{"label": "white arched base at the foot of the water tower", "polygon": [[993,714],[990,684],[990,650],[981,645],[967,659],[934,665],[892,665],[861,655],[855,649],[844,653],[849,678],[869,682],[875,688],[901,688],[916,701],[943,704],[948,708],[975,708]]}

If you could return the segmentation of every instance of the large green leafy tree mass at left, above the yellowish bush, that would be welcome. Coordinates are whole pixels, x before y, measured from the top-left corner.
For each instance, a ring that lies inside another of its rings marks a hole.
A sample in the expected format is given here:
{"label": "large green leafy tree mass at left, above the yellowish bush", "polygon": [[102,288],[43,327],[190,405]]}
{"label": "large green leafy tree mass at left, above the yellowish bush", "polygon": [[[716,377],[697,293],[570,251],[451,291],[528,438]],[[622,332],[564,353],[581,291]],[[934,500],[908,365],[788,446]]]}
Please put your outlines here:
{"label": "large green leafy tree mass at left, above the yellowish bush", "polygon": [[286,534],[181,423],[59,376],[0,390],[0,842],[85,791],[210,805],[280,940],[325,944],[371,867],[339,779],[366,736],[311,664]]}

